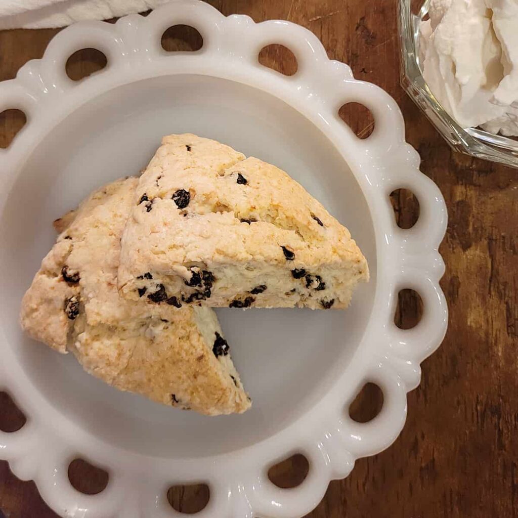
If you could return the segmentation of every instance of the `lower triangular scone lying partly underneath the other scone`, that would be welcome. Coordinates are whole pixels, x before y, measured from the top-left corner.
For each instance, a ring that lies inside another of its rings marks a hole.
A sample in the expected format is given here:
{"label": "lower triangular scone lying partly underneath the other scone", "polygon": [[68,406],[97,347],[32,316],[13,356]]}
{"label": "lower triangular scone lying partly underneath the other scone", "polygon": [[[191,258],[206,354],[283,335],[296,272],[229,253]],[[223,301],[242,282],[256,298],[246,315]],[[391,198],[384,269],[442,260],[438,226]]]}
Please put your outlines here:
{"label": "lower triangular scone lying partly underneath the other scone", "polygon": [[210,308],[142,304],[117,292],[120,238],[138,180],[93,193],[62,230],[24,296],[21,323],[120,390],[217,415],[250,407]]}

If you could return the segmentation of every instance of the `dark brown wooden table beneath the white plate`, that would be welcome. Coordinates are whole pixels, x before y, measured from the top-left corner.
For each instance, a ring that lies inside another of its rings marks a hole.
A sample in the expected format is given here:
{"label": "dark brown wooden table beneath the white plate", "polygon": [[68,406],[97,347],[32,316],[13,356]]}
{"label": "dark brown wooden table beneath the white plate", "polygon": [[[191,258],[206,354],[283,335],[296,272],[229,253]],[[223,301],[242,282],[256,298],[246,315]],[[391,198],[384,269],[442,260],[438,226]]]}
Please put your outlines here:
{"label": "dark brown wooden table beneath the white plate", "polygon": [[[356,463],[346,480],[330,483],[312,518],[433,517],[507,518],[518,516],[518,170],[452,152],[399,86],[395,0],[213,0],[225,15],[245,13],[255,21],[287,19],[308,27],[329,57],[352,67],[356,78],[387,90],[405,115],[407,140],[422,157],[421,168],[442,190],[450,223],[441,246],[447,264],[442,287],[450,327],[442,347],[423,364],[419,389],[408,396],[408,419],[391,448]],[[55,30],[0,32],[0,80],[11,79],[27,60],[40,57]],[[195,42],[187,34],[188,45]],[[166,44],[178,45],[178,41]],[[290,70],[293,62],[273,49],[265,63]],[[96,68],[82,53],[71,74]],[[98,63],[97,63],[98,64]],[[0,145],[19,119],[0,118]],[[365,133],[361,113],[350,118]],[[394,198],[400,221],[415,206]],[[402,324],[416,318],[419,305],[400,297]],[[0,416],[18,419],[5,398]],[[377,401],[367,392],[359,405],[369,412]],[[304,463],[296,458],[278,467],[290,484]],[[71,478],[88,491],[103,483],[84,466]],[[192,509],[203,491],[171,491],[175,506]],[[0,464],[0,508],[9,518],[55,514],[33,482],[21,482]],[[1,516],[1,513],[0,513]],[[216,517],[214,517],[216,518]]]}

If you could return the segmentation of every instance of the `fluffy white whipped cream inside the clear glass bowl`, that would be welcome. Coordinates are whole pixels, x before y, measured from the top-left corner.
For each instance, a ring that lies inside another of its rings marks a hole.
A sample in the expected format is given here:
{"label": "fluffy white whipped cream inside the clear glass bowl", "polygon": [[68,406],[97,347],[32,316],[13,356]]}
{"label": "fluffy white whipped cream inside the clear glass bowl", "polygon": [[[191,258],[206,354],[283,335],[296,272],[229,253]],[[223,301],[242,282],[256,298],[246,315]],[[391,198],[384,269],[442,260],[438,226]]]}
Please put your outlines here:
{"label": "fluffy white whipped cream inside the clear glass bowl", "polygon": [[518,0],[431,0],[423,77],[461,126],[518,136]]}

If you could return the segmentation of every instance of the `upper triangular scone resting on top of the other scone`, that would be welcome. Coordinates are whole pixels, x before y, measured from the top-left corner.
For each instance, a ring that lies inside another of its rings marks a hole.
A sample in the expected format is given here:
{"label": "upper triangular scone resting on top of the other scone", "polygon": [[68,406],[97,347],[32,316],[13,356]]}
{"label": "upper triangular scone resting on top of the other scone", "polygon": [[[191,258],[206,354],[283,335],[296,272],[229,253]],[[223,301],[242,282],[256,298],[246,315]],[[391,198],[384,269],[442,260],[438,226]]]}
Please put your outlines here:
{"label": "upper triangular scone resting on top of the other scone", "polygon": [[128,299],[177,306],[327,309],[368,277],[348,229],[284,171],[185,134],[140,177],[118,281]]}

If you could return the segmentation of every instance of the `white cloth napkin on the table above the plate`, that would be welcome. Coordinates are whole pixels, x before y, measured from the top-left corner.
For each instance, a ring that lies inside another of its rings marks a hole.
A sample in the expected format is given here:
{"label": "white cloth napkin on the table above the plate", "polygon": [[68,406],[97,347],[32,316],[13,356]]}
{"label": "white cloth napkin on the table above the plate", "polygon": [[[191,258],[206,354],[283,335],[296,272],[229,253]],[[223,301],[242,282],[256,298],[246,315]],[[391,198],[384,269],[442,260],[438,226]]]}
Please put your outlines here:
{"label": "white cloth napkin on the table above the plate", "polygon": [[154,9],[167,0],[0,0],[0,30],[63,27]]}

